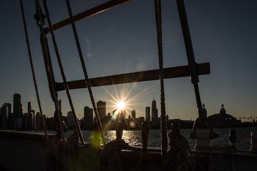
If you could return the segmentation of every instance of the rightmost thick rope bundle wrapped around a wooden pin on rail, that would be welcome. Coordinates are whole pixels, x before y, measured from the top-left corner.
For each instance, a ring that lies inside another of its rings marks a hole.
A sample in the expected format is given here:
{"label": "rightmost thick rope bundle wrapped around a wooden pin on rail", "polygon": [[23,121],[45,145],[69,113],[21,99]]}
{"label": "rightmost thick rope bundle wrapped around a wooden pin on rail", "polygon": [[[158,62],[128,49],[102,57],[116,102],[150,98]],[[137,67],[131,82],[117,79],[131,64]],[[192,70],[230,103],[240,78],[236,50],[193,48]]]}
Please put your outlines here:
{"label": "rightmost thick rope bundle wrapped around a wooden pin on rail", "polygon": [[195,158],[185,136],[168,133],[169,150],[164,160],[164,169],[176,171],[195,170]]}

